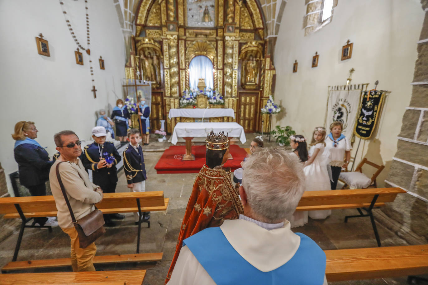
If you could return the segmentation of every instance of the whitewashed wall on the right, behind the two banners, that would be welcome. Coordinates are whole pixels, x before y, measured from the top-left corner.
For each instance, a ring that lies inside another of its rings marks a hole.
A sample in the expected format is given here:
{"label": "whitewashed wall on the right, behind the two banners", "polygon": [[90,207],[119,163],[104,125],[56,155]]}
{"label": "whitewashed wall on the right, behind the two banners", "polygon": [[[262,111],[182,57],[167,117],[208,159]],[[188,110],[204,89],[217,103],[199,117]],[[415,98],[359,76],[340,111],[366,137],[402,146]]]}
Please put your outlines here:
{"label": "whitewashed wall on the right, behind the two banners", "polygon": [[[281,101],[286,113],[273,126],[290,125],[310,138],[313,128],[324,123],[328,85],[344,85],[351,68],[355,68],[352,83],[370,83],[372,89],[379,80],[378,89],[392,92],[375,139],[361,143],[357,163],[366,156],[386,165],[377,179],[382,186],[410,101],[416,42],[424,18],[421,4],[419,0],[339,0],[331,23],[306,37],[302,26],[305,14],[305,1],[288,0],[274,55],[275,100]],[[352,58],[341,61],[342,46],[348,39],[354,43]],[[312,68],[315,52],[320,55],[319,62]],[[292,73],[295,59],[298,71]],[[372,170],[368,167],[365,171]]]}

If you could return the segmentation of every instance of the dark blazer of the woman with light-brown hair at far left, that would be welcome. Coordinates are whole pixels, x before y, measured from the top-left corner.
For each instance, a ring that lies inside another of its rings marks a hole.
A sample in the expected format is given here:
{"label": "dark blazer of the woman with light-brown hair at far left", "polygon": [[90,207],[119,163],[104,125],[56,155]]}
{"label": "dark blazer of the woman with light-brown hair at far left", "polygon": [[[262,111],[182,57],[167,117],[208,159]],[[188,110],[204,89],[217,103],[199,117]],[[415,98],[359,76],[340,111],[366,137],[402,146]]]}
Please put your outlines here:
{"label": "dark blazer of the woman with light-brown hair at far left", "polygon": [[35,186],[49,180],[48,152],[34,144],[21,144],[15,147],[15,160],[18,162],[19,182],[24,186]]}

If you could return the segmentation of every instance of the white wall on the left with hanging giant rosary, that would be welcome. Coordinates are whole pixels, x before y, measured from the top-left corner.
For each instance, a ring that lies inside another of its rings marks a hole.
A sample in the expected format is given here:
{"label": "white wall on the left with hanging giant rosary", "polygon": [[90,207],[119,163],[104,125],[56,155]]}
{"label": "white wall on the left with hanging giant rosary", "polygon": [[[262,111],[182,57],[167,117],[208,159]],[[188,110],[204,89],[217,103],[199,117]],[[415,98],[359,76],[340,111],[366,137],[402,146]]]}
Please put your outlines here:
{"label": "white wall on the left with hanging giant rosary", "polygon": [[[68,17],[83,47],[86,47],[84,1],[67,2]],[[0,2],[0,162],[8,179],[18,170],[11,137],[15,123],[30,120],[39,129],[36,139],[52,156],[55,132],[71,129],[88,139],[95,125],[95,111],[111,110],[116,96],[122,98],[121,79],[125,77],[124,41],[113,1],[88,3],[91,58],[97,98],[93,98],[89,57],[83,51],[84,65],[77,65],[77,45],[65,24],[59,1],[14,0]],[[50,57],[37,53],[40,33],[49,41]],[[105,60],[100,70],[98,59]]]}

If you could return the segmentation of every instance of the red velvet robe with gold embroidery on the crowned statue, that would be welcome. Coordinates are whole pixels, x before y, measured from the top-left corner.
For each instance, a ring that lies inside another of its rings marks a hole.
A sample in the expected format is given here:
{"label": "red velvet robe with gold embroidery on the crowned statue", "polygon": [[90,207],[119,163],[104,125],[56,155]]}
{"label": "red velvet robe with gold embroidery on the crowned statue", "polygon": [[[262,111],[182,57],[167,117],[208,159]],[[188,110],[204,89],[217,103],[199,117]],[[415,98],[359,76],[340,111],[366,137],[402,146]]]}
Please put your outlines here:
{"label": "red velvet robe with gold embroidery on the crowned statue", "polygon": [[244,214],[244,208],[229,175],[221,167],[204,165],[193,183],[165,284],[171,277],[184,239],[205,228],[220,226],[224,220],[238,219],[239,214]]}

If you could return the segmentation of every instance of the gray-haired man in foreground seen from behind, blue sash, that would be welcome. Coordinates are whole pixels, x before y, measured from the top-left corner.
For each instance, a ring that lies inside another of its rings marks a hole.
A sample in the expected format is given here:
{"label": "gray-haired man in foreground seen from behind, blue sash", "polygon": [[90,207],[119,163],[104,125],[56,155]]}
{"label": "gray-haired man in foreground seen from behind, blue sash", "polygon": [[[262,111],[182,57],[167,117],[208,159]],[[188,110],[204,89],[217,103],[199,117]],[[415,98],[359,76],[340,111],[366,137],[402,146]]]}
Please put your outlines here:
{"label": "gray-haired man in foreground seen from behind, blue sash", "polygon": [[323,250],[285,219],[305,190],[300,161],[261,148],[243,168],[244,214],[185,239],[168,284],[327,284]]}

